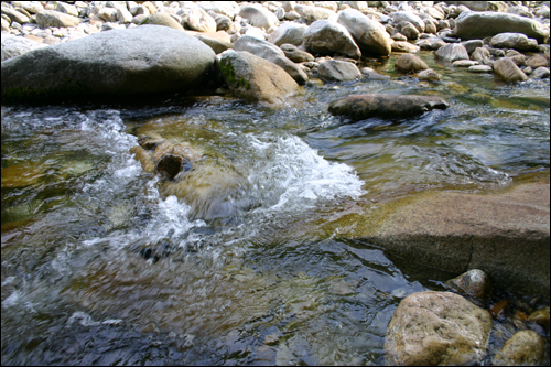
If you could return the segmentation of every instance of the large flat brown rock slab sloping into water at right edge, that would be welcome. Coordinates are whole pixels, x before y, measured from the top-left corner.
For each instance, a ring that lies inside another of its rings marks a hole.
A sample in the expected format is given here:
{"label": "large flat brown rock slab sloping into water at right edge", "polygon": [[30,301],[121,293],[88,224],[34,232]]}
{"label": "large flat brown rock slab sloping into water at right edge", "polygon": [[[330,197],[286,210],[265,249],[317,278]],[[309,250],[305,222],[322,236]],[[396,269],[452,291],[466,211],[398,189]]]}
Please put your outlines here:
{"label": "large flat brown rock slab sloping into water at right edge", "polygon": [[488,195],[424,193],[341,224],[355,223],[352,237],[410,261],[456,273],[480,269],[495,284],[548,298],[549,190],[531,183]]}

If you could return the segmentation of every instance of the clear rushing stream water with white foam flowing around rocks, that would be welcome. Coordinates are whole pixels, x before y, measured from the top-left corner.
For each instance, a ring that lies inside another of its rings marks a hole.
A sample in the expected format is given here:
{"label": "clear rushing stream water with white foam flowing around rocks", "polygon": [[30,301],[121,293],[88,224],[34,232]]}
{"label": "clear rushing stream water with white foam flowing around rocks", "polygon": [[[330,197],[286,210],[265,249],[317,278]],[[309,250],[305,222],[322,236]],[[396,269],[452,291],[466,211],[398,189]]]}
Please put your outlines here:
{"label": "clear rushing stream water with white foam flowing around rocks", "polygon": [[[421,56],[441,82],[398,75],[391,57],[369,63],[390,80],[312,80],[280,109],[228,96],[2,106],[2,365],[382,365],[400,300],[456,274],[325,225],[424,190],[549,175],[549,79],[504,84]],[[364,93],[451,106],[327,112]],[[129,152],[140,136],[201,150],[209,197],[179,199],[143,171]],[[490,349],[514,332],[496,324]]]}

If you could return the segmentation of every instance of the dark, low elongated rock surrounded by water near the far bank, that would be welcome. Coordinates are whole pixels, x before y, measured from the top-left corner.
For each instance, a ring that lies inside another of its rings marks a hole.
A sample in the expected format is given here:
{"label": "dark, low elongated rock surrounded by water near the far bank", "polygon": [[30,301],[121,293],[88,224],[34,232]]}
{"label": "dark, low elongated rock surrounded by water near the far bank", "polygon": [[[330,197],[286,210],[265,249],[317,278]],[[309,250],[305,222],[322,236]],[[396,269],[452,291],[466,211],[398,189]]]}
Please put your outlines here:
{"label": "dark, low elongated rock surrounded by water near the far bank", "polygon": [[395,95],[356,95],[329,105],[333,115],[348,116],[354,119],[370,117],[402,118],[421,115],[432,109],[445,109],[449,104],[432,96],[395,96]]}

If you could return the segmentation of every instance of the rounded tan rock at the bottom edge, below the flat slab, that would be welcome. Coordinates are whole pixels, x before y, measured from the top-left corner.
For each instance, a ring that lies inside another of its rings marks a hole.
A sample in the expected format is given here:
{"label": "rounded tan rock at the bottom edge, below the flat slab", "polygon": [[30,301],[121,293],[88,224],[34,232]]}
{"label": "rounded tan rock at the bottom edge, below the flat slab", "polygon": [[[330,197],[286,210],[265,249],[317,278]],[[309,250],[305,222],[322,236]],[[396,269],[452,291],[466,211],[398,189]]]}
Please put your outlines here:
{"label": "rounded tan rock at the bottom edge, below the flat slab", "polygon": [[491,315],[461,295],[419,292],[400,302],[385,338],[389,365],[471,365],[486,355]]}

